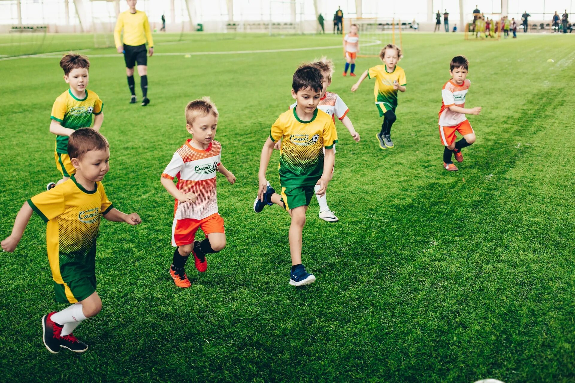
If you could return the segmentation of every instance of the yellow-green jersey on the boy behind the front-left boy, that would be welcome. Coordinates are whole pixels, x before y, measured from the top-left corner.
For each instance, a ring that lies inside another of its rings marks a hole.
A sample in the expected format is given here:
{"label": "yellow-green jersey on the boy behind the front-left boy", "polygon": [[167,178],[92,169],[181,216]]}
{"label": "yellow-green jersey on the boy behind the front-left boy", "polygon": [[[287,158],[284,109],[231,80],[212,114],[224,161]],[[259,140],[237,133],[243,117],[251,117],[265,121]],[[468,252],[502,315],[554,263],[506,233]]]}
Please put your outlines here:
{"label": "yellow-green jersey on the boy behind the front-left boy", "polygon": [[[79,129],[92,125],[92,115],[102,113],[104,103],[91,90],[86,90],[86,97],[76,98],[68,89],[59,95],[52,106],[51,119],[60,122],[63,127]],[[68,136],[56,136],[56,152],[68,153]]]}

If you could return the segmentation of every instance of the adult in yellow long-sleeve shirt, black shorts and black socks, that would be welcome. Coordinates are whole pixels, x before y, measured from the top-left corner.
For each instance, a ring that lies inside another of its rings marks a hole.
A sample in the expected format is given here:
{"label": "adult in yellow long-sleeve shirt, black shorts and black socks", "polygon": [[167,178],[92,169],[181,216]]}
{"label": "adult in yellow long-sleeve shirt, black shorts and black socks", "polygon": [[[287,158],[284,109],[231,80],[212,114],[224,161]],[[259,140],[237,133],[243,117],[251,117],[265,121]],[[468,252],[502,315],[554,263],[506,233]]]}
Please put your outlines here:
{"label": "adult in yellow long-sleeve shirt, black shorts and black socks", "polygon": [[[150,32],[150,23],[145,13],[136,10],[137,0],[127,0],[129,10],[118,15],[116,28],[114,28],[114,41],[118,53],[124,53],[126,62],[126,75],[128,76],[128,87],[132,93],[130,103],[136,103],[136,83],[134,81],[134,65],[138,64],[138,74],[140,75],[140,87],[142,88],[142,106],[150,103],[148,98],[148,58],[146,57],[145,42],[150,48],[150,57],[154,55],[154,40]],[[124,36],[120,39],[120,34],[124,30]]]}

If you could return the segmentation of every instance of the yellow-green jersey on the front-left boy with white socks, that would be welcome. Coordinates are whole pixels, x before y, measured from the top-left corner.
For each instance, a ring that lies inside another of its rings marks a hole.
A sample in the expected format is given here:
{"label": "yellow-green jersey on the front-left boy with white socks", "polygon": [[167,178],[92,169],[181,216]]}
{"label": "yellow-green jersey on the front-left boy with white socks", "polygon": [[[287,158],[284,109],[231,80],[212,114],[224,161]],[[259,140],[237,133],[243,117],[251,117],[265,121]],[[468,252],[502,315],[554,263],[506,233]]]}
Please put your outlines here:
{"label": "yellow-green jersey on the front-left boy with white socks", "polygon": [[75,303],[67,284],[94,276],[100,216],[112,210],[104,185],[88,191],[74,175],[55,188],[33,196],[28,204],[47,222],[48,261],[55,283],[64,285],[68,302]]}

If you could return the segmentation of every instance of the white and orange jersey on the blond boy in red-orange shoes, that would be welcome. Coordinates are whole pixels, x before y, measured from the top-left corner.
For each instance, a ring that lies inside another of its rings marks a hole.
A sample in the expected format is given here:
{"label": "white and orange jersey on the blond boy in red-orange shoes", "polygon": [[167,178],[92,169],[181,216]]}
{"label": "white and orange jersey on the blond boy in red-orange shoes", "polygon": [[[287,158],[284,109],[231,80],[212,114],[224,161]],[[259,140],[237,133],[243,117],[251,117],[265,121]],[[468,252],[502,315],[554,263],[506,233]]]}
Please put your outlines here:
{"label": "white and orange jersey on the blond boy in red-orange shoes", "polygon": [[176,187],[183,194],[194,192],[196,203],[179,202],[174,207],[174,225],[178,219],[203,219],[217,213],[216,171],[221,160],[221,144],[210,142],[208,149],[190,145],[191,140],[179,148],[162,173],[162,177],[178,179]]}

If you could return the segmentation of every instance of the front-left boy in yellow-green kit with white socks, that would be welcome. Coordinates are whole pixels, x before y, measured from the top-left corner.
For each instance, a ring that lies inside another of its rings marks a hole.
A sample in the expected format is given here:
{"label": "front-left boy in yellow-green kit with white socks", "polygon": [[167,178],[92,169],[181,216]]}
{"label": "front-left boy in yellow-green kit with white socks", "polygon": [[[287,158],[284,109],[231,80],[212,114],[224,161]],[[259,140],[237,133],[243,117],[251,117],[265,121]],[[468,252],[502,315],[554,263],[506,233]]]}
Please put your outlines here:
{"label": "front-left boy in yellow-green kit with white socks", "polygon": [[2,250],[13,252],[34,211],[47,223],[46,247],[55,299],[71,304],[42,318],[44,345],[52,354],[59,353],[60,347],[76,353],[86,351],[88,346],[72,331],[102,310],[95,277],[100,216],[130,225],[141,222],[136,213],[127,215],[116,210],[106,196],[101,181],[110,169],[110,150],[104,136],[93,129],[78,129],[70,136],[68,154],[75,175],[24,203],[12,233],[0,244]]}

